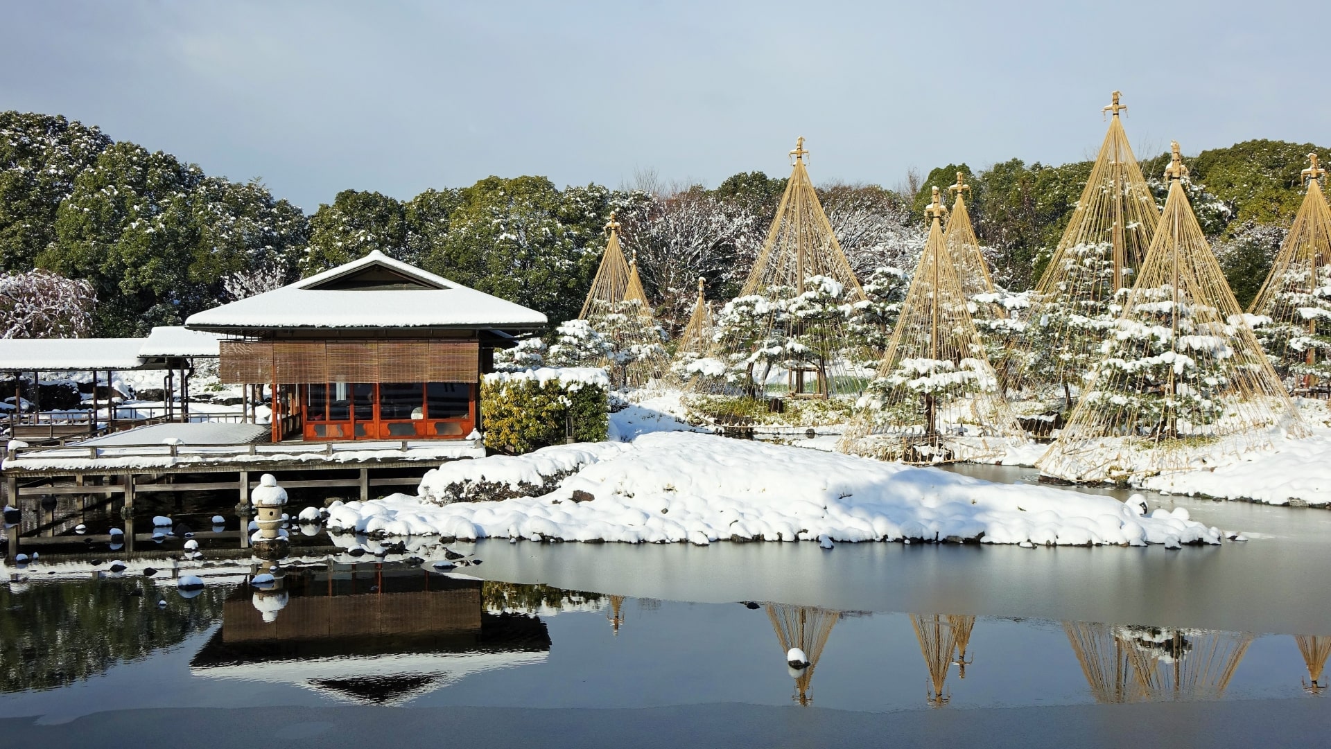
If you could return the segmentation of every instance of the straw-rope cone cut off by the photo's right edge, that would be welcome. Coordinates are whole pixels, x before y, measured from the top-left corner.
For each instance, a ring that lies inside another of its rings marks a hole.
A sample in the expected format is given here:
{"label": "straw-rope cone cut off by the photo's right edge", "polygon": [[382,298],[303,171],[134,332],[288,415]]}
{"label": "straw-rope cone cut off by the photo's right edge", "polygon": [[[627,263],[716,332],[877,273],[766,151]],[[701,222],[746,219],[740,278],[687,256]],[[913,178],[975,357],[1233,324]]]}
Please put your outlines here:
{"label": "straw-rope cone cut off by the photo's right edge", "polygon": [[1318,154],[1308,158],[1303,205],[1248,307],[1259,315],[1258,339],[1274,358],[1276,374],[1295,390],[1331,379],[1331,210],[1319,184],[1326,169],[1318,165]]}

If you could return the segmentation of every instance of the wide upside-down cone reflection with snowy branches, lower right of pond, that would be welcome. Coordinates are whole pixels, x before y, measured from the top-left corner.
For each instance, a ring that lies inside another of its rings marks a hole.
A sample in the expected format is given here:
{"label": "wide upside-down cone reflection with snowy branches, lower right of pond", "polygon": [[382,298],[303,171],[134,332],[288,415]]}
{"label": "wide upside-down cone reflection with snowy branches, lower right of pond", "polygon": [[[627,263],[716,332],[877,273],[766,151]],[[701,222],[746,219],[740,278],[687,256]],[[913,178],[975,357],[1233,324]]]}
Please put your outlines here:
{"label": "wide upside-down cone reflection with snowy branches, lower right of pond", "polygon": [[1129,660],[1150,700],[1219,700],[1252,635],[1127,627]]}

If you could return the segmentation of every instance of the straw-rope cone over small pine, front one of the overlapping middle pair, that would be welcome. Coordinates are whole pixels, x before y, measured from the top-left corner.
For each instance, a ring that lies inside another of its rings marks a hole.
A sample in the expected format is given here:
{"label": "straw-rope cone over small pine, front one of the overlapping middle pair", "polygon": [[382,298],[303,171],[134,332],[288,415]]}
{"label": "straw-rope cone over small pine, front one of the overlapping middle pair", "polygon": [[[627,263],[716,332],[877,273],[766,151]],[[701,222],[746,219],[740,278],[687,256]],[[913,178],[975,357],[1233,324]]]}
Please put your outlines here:
{"label": "straw-rope cone over small pine, front one of the overlapping middle pair", "polygon": [[944,246],[938,188],[933,225],[878,374],[856,403],[840,448],[908,463],[1001,456],[1026,442],[1004,400],[961,281]]}

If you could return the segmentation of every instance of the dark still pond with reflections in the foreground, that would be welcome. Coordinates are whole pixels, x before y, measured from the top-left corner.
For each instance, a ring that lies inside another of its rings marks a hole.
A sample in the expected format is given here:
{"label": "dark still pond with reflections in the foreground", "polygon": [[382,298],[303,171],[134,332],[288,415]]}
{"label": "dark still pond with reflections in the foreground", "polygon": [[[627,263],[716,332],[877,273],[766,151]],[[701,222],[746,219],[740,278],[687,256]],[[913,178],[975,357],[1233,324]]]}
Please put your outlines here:
{"label": "dark still pond with reflections in the foreground", "polygon": [[[249,584],[248,559],[217,559],[193,597],[130,572],[51,564],[45,575],[39,560],[0,587],[0,730],[128,745],[161,721],[234,728],[266,714],[273,736],[319,745],[347,716],[389,736],[411,714],[475,721],[482,744],[564,720],[610,721],[620,738],[655,725],[679,741],[679,726],[715,721],[717,736],[775,730],[780,744],[819,726],[872,734],[881,721],[984,734],[1020,716],[1038,742],[1032,721],[1059,716],[1101,726],[1097,741],[1113,745],[1130,725],[1256,726],[1243,716],[1260,705],[1267,720],[1283,716],[1280,732],[1324,740],[1331,512],[1149,502],[1250,540],[1179,551],[494,540],[457,544],[483,564],[453,571],[406,555],[293,557],[273,589]],[[788,664],[791,648],[812,663]],[[495,732],[495,716],[515,733]],[[241,733],[218,736],[200,741]]]}

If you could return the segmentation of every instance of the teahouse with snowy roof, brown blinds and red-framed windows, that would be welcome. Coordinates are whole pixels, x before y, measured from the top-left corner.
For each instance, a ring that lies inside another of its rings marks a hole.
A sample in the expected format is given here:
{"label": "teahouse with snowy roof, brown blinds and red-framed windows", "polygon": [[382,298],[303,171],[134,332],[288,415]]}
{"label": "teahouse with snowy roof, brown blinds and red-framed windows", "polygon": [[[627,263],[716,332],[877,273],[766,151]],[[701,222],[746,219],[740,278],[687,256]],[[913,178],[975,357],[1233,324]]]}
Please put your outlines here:
{"label": "teahouse with snowy roof, brown blinds and red-framed windows", "polygon": [[546,315],[373,251],[192,315],[220,378],[273,388],[273,442],[463,439],[494,349]]}

